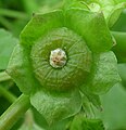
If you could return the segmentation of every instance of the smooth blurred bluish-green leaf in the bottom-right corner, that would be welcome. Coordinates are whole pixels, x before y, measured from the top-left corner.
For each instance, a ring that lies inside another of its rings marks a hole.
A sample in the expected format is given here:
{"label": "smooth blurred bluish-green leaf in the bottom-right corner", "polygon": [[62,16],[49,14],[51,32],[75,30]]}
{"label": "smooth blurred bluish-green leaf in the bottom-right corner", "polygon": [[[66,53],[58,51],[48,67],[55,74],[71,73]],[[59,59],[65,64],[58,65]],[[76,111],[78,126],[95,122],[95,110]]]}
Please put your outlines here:
{"label": "smooth blurred bluish-green leaf in the bottom-right corner", "polygon": [[103,105],[102,113],[96,113],[108,130],[126,129],[126,91],[117,83],[106,94],[100,96]]}

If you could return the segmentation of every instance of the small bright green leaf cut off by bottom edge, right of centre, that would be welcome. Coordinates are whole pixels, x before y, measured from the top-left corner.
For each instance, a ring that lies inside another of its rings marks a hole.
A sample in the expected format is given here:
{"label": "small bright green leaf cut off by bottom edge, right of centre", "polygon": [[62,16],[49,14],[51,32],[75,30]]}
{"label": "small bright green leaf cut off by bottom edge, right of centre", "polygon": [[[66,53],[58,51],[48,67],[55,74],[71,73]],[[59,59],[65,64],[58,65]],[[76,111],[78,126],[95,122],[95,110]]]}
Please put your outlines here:
{"label": "small bright green leaf cut off by bottom edge, right of centre", "polygon": [[70,130],[104,130],[104,126],[100,119],[87,119],[84,115],[77,115]]}

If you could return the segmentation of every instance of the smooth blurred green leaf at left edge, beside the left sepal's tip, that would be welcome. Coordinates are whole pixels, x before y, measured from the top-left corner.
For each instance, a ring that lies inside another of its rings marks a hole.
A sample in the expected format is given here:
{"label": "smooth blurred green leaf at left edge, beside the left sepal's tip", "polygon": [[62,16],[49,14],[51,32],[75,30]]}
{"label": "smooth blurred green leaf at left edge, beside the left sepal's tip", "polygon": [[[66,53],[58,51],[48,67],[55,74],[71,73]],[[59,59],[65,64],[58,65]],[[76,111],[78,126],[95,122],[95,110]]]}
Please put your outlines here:
{"label": "smooth blurred green leaf at left edge, beside the left sepal's tip", "polygon": [[11,32],[0,29],[0,69],[5,69],[8,66],[11,53],[18,42]]}

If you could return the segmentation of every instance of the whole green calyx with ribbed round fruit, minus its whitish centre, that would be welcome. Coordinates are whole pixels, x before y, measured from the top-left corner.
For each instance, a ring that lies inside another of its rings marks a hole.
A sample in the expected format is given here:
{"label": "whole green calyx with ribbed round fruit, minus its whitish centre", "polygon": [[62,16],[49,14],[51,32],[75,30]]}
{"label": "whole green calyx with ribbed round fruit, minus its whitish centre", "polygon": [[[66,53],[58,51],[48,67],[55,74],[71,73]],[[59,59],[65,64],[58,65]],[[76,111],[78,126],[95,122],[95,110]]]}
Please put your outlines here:
{"label": "whole green calyx with ribbed round fruit, minus its whitish centre", "polygon": [[[59,48],[66,52],[67,62],[53,68],[50,52]],[[68,6],[35,14],[21,32],[7,72],[51,125],[78,113],[80,86],[81,92],[86,88],[91,94],[88,100],[100,107],[96,94],[105,93],[119,81],[111,48],[112,37],[102,13]]]}

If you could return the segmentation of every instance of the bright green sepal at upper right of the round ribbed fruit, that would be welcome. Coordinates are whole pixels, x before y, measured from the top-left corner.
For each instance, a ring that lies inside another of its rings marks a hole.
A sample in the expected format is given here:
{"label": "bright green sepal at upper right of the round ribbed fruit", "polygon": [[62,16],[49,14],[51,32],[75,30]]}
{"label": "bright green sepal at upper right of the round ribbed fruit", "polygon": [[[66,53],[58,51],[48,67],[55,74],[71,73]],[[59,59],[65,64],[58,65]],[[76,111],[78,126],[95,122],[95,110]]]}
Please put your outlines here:
{"label": "bright green sepal at upper right of the round ribbed fruit", "polygon": [[102,13],[70,9],[65,12],[65,26],[80,35],[92,52],[112,48],[112,37]]}

